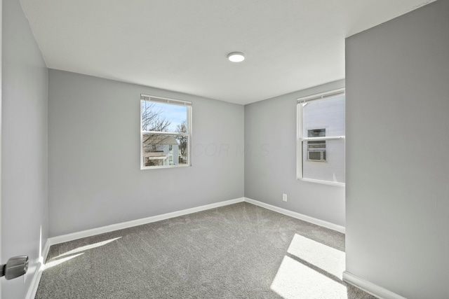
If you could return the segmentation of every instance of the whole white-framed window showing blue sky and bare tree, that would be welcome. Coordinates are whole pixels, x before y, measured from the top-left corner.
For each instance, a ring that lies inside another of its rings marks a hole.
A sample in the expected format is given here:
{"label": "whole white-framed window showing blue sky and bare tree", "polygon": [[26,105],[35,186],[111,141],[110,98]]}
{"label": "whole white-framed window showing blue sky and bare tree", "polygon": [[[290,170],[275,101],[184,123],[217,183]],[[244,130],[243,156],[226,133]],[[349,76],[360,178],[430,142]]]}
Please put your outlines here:
{"label": "whole white-framed window showing blue sky and bare tree", "polygon": [[140,169],[192,165],[192,103],[140,95]]}

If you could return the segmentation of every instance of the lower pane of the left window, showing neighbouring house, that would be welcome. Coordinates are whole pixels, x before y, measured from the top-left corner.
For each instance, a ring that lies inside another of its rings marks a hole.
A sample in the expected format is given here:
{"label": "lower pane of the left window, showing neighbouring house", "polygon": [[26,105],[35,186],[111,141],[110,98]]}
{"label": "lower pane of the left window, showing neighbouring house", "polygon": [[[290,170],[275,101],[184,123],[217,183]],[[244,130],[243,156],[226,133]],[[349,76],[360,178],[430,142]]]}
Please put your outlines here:
{"label": "lower pane of the left window, showing neighbouring house", "polygon": [[188,141],[187,136],[143,133],[143,166],[187,165]]}

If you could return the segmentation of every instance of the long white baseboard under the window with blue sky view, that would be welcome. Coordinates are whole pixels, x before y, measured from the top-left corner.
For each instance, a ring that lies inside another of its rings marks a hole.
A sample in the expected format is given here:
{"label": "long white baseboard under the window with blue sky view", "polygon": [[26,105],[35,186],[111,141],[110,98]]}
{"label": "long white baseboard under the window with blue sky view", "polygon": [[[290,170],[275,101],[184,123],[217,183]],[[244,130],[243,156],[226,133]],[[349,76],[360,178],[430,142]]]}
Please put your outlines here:
{"label": "long white baseboard under the window with blue sky view", "polygon": [[203,205],[201,207],[194,207],[194,208],[191,208],[191,209],[184,209],[184,210],[181,210],[181,211],[174,211],[174,212],[167,213],[167,214],[156,215],[156,216],[151,216],[151,217],[147,217],[147,218],[141,218],[141,219],[137,219],[137,220],[133,220],[133,221],[126,221],[126,222],[122,222],[122,223],[102,226],[101,228],[93,228],[91,230],[83,230],[81,232],[73,232],[73,233],[67,234],[67,235],[61,235],[61,236],[58,236],[58,237],[51,237],[51,238],[48,239],[48,242],[50,243],[50,245],[60,244],[60,243],[64,243],[64,242],[73,241],[74,239],[81,239],[81,238],[84,238],[84,237],[91,237],[91,236],[94,236],[94,235],[100,235],[100,234],[103,234],[105,232],[113,232],[114,230],[123,230],[123,228],[131,228],[131,227],[137,226],[137,225],[142,225],[142,224],[152,223],[152,222],[156,222],[156,221],[166,220],[166,219],[169,219],[169,218],[174,218],[174,217],[178,217],[178,216],[183,216],[183,215],[187,215],[187,214],[196,213],[198,211],[205,211],[205,210],[208,210],[208,209],[215,209],[217,207],[223,207],[223,206],[227,206],[229,204],[236,204],[237,202],[243,202],[243,201],[244,201],[244,197],[236,198],[235,200],[225,200],[224,202],[215,202],[214,204],[206,204],[206,205]]}

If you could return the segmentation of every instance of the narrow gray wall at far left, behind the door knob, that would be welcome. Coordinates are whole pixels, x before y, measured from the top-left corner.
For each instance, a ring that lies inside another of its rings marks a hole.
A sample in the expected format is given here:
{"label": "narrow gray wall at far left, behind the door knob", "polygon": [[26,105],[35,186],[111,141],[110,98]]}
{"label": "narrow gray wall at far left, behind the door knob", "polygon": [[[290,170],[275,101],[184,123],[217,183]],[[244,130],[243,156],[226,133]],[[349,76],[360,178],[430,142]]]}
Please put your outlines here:
{"label": "narrow gray wall at far left, behind the door knob", "polygon": [[48,70],[20,3],[3,0],[1,263],[29,256],[24,279],[1,279],[2,298],[24,298],[47,239]]}

